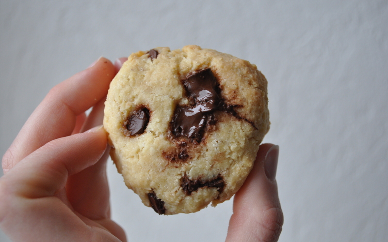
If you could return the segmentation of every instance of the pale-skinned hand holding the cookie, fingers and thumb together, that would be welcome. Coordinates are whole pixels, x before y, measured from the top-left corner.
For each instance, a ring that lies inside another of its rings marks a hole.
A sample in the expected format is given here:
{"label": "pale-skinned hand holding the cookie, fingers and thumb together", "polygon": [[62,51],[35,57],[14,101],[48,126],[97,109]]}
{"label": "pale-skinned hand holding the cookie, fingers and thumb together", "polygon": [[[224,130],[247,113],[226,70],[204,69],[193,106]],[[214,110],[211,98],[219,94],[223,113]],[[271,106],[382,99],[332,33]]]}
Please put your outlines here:
{"label": "pale-skinned hand holding the cookie, fingers and thumb together", "polygon": [[[4,154],[0,228],[12,241],[127,241],[111,220],[110,147],[100,126],[109,83],[125,60],[112,64],[99,58],[52,88]],[[275,180],[277,152],[272,144],[260,146],[234,197],[227,242],[278,240],[283,213]]]}

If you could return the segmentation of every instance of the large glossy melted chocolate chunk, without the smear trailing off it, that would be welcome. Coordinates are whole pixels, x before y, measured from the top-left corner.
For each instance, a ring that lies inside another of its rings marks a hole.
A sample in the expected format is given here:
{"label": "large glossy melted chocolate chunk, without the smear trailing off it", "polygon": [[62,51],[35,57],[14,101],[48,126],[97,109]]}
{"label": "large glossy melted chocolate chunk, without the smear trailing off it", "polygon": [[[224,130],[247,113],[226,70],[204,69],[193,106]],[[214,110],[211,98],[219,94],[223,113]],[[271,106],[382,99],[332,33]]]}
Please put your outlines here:
{"label": "large glossy melted chocolate chunk, without the smear trailing off it", "polygon": [[201,142],[207,120],[221,103],[217,79],[210,69],[196,72],[182,80],[191,99],[189,106],[175,109],[171,131],[174,136],[186,136]]}

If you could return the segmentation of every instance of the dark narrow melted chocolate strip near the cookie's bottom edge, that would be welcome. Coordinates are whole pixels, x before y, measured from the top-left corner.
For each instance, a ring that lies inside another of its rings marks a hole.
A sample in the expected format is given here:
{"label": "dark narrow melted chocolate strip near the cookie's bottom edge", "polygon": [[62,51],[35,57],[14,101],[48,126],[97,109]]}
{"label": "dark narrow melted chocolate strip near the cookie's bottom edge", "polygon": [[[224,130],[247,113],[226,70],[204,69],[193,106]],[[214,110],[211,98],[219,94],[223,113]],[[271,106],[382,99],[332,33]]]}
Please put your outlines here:
{"label": "dark narrow melted chocolate strip near the cookie's bottom edge", "polygon": [[196,179],[194,181],[190,180],[185,174],[180,180],[180,186],[183,188],[183,193],[186,196],[190,196],[192,192],[198,190],[201,187],[216,187],[219,193],[224,191],[225,181],[221,175],[214,178],[211,181],[200,181]]}

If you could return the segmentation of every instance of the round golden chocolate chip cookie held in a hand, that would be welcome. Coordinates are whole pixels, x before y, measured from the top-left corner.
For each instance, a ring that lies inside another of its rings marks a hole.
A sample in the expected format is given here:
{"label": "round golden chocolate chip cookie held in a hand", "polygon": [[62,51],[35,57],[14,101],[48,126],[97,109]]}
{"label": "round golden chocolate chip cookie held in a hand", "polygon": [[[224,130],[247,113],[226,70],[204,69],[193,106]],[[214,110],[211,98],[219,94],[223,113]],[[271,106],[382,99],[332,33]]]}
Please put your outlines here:
{"label": "round golden chocolate chip cookie held in a hand", "polygon": [[230,199],[269,130],[267,81],[256,66],[188,45],[129,56],[104,110],[111,157],[159,214]]}

